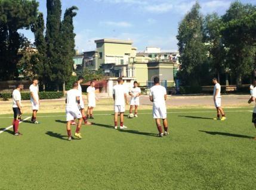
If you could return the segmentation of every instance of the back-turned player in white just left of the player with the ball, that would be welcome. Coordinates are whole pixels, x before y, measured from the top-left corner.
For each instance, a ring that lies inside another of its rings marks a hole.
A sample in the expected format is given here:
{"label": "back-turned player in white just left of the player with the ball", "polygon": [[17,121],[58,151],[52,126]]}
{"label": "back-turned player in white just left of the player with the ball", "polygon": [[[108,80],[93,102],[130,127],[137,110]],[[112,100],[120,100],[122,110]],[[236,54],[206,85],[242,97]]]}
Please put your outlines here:
{"label": "back-turned player in white just left of the player with the ball", "polygon": [[118,129],[118,114],[120,113],[120,129],[125,129],[127,126],[124,125],[124,112],[125,112],[125,103],[127,102],[127,91],[125,90],[124,85],[122,85],[122,78],[118,78],[118,84],[113,87],[113,99],[115,101],[115,129]]}

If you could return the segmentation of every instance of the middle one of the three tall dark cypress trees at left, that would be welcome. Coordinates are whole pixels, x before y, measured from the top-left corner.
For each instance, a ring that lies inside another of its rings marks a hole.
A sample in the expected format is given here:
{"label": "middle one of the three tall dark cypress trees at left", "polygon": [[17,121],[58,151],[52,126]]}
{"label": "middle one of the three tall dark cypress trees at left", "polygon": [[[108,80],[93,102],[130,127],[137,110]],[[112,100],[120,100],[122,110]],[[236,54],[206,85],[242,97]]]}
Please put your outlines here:
{"label": "middle one of the three tall dark cypress trees at left", "polygon": [[47,57],[49,64],[49,78],[55,84],[57,90],[61,84],[61,2],[60,0],[47,0],[47,30],[45,40],[47,42]]}

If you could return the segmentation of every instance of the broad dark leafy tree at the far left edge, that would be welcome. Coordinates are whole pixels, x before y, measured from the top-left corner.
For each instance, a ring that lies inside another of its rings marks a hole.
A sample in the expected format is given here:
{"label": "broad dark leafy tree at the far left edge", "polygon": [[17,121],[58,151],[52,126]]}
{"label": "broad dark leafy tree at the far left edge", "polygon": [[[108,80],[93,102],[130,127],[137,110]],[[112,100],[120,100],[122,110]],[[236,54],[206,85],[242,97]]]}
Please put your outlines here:
{"label": "broad dark leafy tree at the far left edge", "polygon": [[24,47],[19,29],[29,29],[36,20],[38,2],[35,0],[0,0],[0,80],[18,77],[18,50]]}

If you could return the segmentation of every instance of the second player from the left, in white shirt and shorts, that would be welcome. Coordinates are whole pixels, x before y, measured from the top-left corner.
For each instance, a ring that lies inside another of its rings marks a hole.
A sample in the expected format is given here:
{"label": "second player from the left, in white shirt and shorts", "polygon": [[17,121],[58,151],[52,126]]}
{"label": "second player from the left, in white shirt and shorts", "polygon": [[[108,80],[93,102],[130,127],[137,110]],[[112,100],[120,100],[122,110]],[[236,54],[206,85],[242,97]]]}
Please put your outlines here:
{"label": "second player from the left, in white shirt and shorts", "polygon": [[32,106],[32,118],[31,122],[33,124],[39,124],[38,121],[36,121],[36,113],[38,113],[39,110],[39,95],[38,95],[38,80],[36,78],[33,78],[32,84],[29,87],[30,90],[30,102]]}

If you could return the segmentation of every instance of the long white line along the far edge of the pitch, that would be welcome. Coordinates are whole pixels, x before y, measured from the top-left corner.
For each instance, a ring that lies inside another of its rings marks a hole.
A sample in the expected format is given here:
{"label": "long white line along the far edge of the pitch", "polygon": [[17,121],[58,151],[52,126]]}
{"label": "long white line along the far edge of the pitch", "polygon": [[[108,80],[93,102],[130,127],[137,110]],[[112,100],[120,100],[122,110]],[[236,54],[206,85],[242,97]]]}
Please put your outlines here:
{"label": "long white line along the far edge of the pitch", "polygon": [[[167,113],[215,113],[216,111],[192,111],[192,112],[167,112]],[[226,110],[225,112],[252,112],[252,110]],[[139,115],[152,114],[152,112],[144,112],[139,113]],[[96,113],[94,115],[113,115],[113,113]],[[45,115],[45,116],[36,116],[36,118],[52,118],[52,117],[63,117],[66,115]],[[4,118],[13,118],[13,117],[0,117],[0,119]]]}

